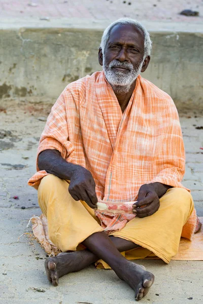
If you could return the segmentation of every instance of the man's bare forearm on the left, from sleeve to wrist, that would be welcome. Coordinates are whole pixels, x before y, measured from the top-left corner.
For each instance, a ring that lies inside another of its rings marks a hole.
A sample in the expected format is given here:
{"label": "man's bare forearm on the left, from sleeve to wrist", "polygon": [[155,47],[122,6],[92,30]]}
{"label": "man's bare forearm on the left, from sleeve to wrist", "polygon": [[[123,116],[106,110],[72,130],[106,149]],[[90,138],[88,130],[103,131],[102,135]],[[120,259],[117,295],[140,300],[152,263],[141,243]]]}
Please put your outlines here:
{"label": "man's bare forearm on the left, from sleeve to wrist", "polygon": [[66,162],[57,150],[44,150],[38,157],[38,167],[59,178],[70,180],[73,173],[81,166]]}

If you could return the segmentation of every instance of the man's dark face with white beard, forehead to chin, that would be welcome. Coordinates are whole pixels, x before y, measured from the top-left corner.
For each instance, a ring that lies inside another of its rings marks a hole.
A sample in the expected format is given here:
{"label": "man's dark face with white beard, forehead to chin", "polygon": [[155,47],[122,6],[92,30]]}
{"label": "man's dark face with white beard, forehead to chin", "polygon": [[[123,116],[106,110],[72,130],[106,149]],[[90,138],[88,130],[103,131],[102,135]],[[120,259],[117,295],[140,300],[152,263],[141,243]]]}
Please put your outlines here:
{"label": "man's dark face with white beard, forehead to chin", "polygon": [[115,25],[99,63],[102,60],[111,85],[126,86],[131,85],[142,71],[143,57],[143,32],[132,25]]}

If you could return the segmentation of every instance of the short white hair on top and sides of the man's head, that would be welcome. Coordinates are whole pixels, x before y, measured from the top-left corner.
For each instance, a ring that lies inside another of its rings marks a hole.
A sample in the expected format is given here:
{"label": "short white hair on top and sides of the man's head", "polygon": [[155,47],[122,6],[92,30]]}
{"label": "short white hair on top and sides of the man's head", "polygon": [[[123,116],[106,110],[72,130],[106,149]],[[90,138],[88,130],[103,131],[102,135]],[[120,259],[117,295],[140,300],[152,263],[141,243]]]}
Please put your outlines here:
{"label": "short white hair on top and sides of the man's head", "polygon": [[146,28],[137,20],[131,19],[131,18],[121,18],[116,20],[115,22],[111,23],[104,31],[103,36],[101,38],[101,44],[100,44],[100,48],[104,54],[107,42],[109,40],[110,37],[110,32],[112,30],[112,28],[115,25],[126,25],[126,24],[130,24],[133,25],[139,29],[141,29],[143,31],[144,34],[144,58],[146,58],[147,56],[150,55],[151,53],[151,49],[152,49],[152,41],[150,39],[150,34],[148,33],[148,31],[146,30]]}

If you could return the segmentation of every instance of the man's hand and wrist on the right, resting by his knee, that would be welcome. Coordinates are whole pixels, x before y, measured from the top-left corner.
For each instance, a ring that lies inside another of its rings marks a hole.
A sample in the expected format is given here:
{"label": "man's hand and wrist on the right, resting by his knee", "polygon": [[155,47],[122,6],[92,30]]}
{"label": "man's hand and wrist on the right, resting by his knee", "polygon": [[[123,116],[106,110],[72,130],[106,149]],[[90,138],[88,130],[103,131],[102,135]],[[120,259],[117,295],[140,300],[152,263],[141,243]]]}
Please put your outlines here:
{"label": "man's hand and wrist on the right, resting by his knee", "polygon": [[160,182],[142,185],[138,193],[138,201],[133,205],[133,213],[138,217],[146,217],[154,214],[159,209],[159,199],[169,188],[172,188],[172,186],[164,185]]}

